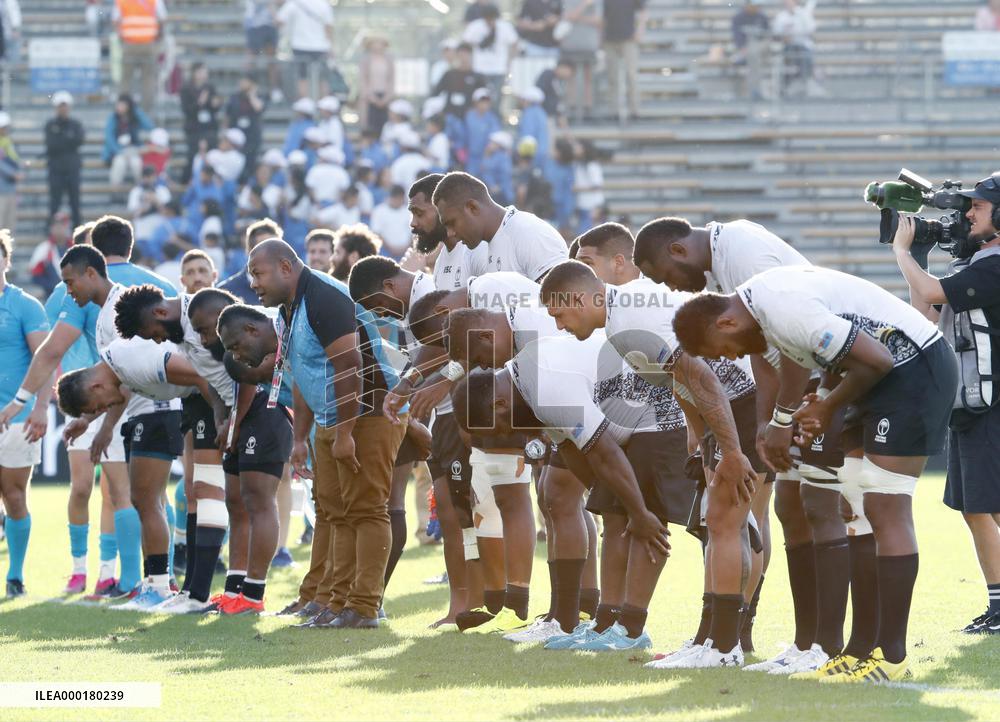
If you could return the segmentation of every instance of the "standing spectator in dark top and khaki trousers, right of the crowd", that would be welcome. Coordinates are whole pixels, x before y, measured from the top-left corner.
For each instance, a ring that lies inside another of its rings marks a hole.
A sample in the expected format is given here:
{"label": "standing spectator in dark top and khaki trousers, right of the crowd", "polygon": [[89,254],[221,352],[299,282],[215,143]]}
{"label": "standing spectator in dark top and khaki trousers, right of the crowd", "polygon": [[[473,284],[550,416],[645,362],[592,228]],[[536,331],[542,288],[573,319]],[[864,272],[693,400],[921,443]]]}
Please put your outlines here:
{"label": "standing spectator in dark top and khaki trousers, right of the crowd", "polygon": [[[611,97],[608,105],[618,109],[619,119],[639,117],[639,43],[646,32],[646,0],[615,0],[604,3],[604,55],[608,65]],[[624,76],[624,78],[623,78]],[[625,101],[622,100],[625,86]]]}

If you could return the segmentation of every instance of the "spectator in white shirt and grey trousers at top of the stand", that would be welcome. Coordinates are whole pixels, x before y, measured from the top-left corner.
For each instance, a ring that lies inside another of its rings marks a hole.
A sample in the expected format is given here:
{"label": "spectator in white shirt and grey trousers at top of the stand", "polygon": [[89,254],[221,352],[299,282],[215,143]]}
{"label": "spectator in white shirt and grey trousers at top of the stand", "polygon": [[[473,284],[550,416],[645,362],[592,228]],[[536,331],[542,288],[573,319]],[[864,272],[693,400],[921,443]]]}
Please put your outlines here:
{"label": "spectator in white shirt and grey trousers at top of the stand", "polygon": [[289,0],[275,17],[288,36],[299,80],[299,97],[313,90],[326,95],[329,85],[324,77],[327,58],[333,57],[333,8],[329,0]]}

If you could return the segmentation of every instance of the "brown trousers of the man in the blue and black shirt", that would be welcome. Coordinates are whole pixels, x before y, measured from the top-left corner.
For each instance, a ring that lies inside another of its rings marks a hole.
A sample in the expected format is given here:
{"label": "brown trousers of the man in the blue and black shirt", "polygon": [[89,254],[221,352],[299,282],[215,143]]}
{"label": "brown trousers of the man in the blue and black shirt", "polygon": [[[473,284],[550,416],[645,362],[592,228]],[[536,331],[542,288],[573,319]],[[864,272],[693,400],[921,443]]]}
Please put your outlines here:
{"label": "brown trousers of the man in the blue and black shirt", "polygon": [[382,602],[385,566],[392,532],[389,488],[392,466],[406,434],[406,420],[393,424],[384,416],[363,416],[354,425],[355,474],[334,461],[336,427],[317,427],[313,531],[309,571],[299,587],[302,601],[340,611],[346,607],[374,617]]}

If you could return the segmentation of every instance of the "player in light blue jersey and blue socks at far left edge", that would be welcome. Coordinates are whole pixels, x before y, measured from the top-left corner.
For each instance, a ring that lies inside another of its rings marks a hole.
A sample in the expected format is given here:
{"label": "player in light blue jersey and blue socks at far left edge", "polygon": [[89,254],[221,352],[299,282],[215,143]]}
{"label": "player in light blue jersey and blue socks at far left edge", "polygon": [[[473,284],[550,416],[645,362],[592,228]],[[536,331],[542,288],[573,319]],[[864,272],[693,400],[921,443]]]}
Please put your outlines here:
{"label": "player in light blue jersey and blue socks at far left edge", "polygon": [[[19,597],[25,593],[24,557],[31,535],[28,481],[32,468],[42,458],[41,439],[48,426],[52,384],[50,374],[50,383],[39,389],[37,397],[21,385],[32,354],[45,339],[49,322],[41,303],[7,283],[10,254],[10,234],[0,231],[0,402],[12,399],[19,402],[18,413],[0,424],[0,474],[3,475],[3,502],[7,510],[4,523],[9,555],[7,596]],[[34,404],[29,412],[32,400]]]}

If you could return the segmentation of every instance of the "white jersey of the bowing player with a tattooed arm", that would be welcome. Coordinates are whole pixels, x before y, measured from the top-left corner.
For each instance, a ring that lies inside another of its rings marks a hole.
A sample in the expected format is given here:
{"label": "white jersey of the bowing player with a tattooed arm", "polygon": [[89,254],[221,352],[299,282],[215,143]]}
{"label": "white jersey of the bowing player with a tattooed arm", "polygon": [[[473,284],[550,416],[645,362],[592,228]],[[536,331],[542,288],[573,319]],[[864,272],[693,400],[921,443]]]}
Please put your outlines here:
{"label": "white jersey of the bowing player with a tattooed arm", "polygon": [[[690,293],[671,291],[648,278],[606,286],[604,332],[608,341],[635,373],[654,386],[669,386],[664,374],[682,353],[674,333],[674,315],[693,297]],[[749,359],[713,359],[708,364],[719,377],[729,400],[753,393]],[[674,382],[674,385],[689,397],[681,384]]]}

